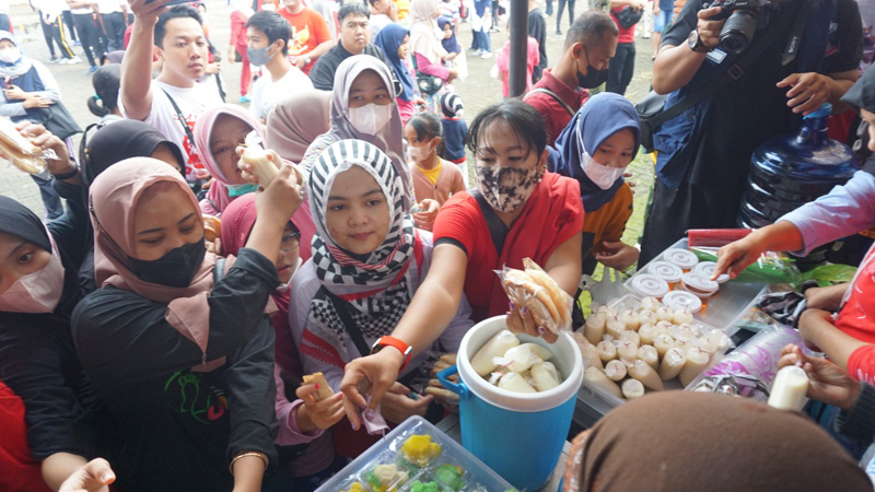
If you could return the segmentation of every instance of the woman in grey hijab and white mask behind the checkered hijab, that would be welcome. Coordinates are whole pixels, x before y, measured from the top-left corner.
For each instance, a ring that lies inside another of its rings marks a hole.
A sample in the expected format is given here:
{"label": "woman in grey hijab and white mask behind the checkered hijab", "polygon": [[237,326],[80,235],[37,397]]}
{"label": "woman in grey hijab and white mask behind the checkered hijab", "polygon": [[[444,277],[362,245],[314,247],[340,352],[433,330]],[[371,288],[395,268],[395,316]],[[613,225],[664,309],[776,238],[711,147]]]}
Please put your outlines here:
{"label": "woman in grey hijab and white mask behind the checkered hijab", "polygon": [[405,209],[413,203],[412,181],[404,150],[404,125],[395,98],[392,71],[368,55],[343,60],[335,73],[331,129],[307,149],[301,165],[310,169],[322,152],[340,140],[362,140],[380,149],[401,178]]}

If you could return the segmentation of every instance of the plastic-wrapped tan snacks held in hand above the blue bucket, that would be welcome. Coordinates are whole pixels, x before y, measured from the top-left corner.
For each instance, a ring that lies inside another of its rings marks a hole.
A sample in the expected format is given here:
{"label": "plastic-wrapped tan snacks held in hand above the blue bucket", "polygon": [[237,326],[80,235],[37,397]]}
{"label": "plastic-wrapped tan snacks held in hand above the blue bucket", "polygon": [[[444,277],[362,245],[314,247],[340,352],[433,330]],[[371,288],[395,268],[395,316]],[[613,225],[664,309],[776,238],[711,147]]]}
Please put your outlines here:
{"label": "plastic-wrapped tan snacks held in hand above the blue bucket", "polygon": [[524,258],[523,265],[525,270],[505,267],[495,271],[508,298],[517,306],[525,306],[538,326],[553,333],[571,330],[571,296],[529,258]]}

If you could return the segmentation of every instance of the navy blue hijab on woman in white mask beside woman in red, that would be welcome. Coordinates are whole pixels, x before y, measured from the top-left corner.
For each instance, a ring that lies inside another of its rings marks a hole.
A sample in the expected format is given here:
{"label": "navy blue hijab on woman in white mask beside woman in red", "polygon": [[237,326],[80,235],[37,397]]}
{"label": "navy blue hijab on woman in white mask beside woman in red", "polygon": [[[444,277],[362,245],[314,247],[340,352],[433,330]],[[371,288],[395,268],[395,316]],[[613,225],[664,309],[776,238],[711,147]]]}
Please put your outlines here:
{"label": "navy blue hijab on woman in white mask beside woman in red", "polygon": [[632,130],[635,137],[635,150],[632,153],[634,160],[641,144],[638,112],[626,97],[603,92],[590,97],[556,139],[556,155],[551,155],[555,159],[550,159],[550,171],[580,181],[581,199],[586,213],[595,212],[610,201],[622,186],[623,179],[617,179],[608,189],[599,188],[583,172],[581,156],[584,152],[592,155],[602,142],[626,128]]}

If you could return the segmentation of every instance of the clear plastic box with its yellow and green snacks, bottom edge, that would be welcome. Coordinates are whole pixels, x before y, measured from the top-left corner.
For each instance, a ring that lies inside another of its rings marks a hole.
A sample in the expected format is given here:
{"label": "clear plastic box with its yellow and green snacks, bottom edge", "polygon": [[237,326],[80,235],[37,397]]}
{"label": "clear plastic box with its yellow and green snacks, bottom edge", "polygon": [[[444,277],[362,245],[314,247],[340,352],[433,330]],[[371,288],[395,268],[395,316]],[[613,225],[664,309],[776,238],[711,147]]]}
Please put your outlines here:
{"label": "clear plastic box with its yellow and green snacks, bottom edge", "polygon": [[515,489],[460,444],[411,417],[316,492],[505,492]]}

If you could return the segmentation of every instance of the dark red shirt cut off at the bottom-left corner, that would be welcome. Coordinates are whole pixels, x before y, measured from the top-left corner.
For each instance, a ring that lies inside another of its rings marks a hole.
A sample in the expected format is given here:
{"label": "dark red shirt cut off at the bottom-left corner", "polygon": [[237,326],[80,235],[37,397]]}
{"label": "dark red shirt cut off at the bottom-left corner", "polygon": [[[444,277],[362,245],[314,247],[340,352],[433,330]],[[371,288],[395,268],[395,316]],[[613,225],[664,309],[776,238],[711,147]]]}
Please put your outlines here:
{"label": "dark red shirt cut off at the bottom-left corner", "polygon": [[24,402],[0,382],[0,490],[49,492],[26,433]]}

